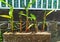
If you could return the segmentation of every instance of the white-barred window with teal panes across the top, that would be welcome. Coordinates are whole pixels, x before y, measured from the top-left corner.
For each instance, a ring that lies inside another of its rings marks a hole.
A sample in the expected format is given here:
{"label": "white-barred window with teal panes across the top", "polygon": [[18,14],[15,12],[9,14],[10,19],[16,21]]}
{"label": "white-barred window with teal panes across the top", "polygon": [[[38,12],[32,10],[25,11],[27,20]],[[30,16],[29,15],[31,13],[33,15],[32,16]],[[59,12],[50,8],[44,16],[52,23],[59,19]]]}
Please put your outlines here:
{"label": "white-barred window with teal panes across the top", "polygon": [[[14,9],[24,9],[24,5],[27,6],[29,2],[33,0],[4,0],[6,3],[11,4]],[[0,9],[9,9],[9,6],[0,2]],[[36,0],[30,8],[31,10],[60,10],[60,0]]]}

